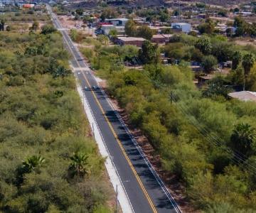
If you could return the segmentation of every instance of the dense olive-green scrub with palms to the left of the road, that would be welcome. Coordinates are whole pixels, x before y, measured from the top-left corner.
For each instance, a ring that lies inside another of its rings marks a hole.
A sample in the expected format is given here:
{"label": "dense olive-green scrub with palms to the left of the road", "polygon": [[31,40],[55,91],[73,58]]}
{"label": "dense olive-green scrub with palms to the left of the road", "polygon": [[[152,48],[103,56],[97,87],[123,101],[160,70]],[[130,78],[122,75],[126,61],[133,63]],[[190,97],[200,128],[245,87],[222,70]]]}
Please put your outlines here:
{"label": "dense olive-green scrub with palms to the left of the road", "polygon": [[0,212],[111,212],[68,57],[53,26],[0,33]]}

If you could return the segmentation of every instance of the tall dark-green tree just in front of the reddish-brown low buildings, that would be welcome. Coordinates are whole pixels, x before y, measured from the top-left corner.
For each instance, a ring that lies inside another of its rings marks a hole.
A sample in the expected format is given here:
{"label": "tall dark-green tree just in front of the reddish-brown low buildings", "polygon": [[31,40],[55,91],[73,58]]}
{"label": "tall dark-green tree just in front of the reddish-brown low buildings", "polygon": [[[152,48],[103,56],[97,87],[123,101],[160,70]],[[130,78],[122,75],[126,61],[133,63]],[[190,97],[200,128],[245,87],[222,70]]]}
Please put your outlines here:
{"label": "tall dark-green tree just in front of the reddish-brown low buildings", "polygon": [[158,46],[149,40],[144,40],[142,49],[139,50],[139,58],[144,64],[157,63],[159,60]]}

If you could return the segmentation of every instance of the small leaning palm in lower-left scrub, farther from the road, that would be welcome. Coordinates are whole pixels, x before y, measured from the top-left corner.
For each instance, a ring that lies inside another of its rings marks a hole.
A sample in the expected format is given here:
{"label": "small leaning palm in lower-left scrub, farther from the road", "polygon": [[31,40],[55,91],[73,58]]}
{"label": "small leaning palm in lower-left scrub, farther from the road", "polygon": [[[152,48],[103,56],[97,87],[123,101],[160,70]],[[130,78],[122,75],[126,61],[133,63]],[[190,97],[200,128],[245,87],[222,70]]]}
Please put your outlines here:
{"label": "small leaning palm in lower-left scrub, farther from the road", "polygon": [[23,173],[31,173],[36,168],[40,168],[45,162],[46,159],[41,155],[28,157],[22,162]]}

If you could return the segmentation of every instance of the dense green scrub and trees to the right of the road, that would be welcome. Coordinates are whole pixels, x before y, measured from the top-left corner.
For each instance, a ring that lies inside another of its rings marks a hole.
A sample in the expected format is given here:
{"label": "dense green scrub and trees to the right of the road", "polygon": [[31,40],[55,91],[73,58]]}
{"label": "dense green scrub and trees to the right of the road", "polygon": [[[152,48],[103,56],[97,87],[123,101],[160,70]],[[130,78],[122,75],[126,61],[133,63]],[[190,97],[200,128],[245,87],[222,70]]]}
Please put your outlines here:
{"label": "dense green scrub and trees to the right of the road", "polygon": [[[229,57],[223,51],[230,51],[230,45],[219,37],[173,38],[165,48],[170,57],[173,51],[181,52],[181,62],[169,66],[158,63],[156,46],[148,41],[142,50],[132,46],[81,50],[107,79],[107,89],[127,111],[130,123],[142,129],[161,155],[162,167],[183,182],[195,207],[206,212],[255,212],[256,104],[228,99],[225,84],[230,75],[216,77],[198,90],[185,62],[195,52],[198,61],[209,55],[217,63],[219,54]],[[245,49],[235,49],[248,55]],[[144,53],[148,55],[143,70],[124,67],[125,60],[143,59]],[[243,77],[246,66],[241,57],[237,64]],[[256,66],[250,72],[255,73]]]}

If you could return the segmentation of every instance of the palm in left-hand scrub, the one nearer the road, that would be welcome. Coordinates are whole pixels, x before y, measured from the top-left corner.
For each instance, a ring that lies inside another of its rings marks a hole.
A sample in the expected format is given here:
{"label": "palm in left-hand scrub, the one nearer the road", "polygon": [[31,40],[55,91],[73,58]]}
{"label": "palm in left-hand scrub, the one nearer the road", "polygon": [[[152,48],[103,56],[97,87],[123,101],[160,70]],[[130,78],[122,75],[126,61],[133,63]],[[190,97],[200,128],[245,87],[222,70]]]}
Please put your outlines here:
{"label": "palm in left-hand scrub, the one nearer the road", "polygon": [[72,161],[70,163],[70,172],[73,177],[78,176],[80,178],[90,174],[90,169],[87,163],[88,156],[85,153],[74,153],[70,157]]}

